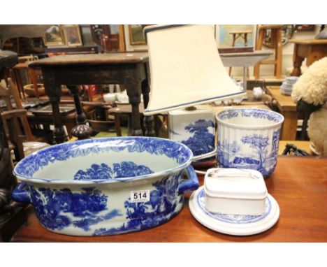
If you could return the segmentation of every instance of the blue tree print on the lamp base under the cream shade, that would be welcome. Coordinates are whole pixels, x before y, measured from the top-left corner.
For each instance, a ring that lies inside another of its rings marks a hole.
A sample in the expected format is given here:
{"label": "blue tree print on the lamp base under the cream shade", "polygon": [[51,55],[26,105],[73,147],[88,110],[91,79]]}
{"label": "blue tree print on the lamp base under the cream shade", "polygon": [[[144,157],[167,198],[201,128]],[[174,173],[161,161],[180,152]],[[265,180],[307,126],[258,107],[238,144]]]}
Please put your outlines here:
{"label": "blue tree print on the lamp base under the cream shade", "polygon": [[192,150],[194,156],[215,150],[215,135],[210,133],[210,127],[215,129],[215,123],[212,120],[197,120],[194,124],[185,127],[186,131],[194,134],[189,139],[183,140],[182,143]]}

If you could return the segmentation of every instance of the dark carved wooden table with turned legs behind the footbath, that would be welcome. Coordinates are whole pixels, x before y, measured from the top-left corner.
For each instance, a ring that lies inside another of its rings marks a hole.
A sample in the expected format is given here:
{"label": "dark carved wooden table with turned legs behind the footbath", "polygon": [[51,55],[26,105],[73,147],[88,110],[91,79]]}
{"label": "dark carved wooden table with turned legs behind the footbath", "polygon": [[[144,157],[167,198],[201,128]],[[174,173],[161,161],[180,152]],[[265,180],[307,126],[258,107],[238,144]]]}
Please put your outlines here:
{"label": "dark carved wooden table with turned legs behind the footbath", "polygon": [[[67,85],[73,94],[76,107],[77,126],[71,131],[79,139],[89,138],[92,129],[86,124],[77,85],[123,84],[132,107],[132,136],[142,136],[140,128],[140,95],[145,106],[149,102],[150,87],[147,83],[147,52],[123,52],[95,55],[62,55],[31,62],[29,67],[41,68],[45,86],[52,104],[54,120],[54,141],[67,140],[59,116],[61,85]],[[153,117],[145,118],[145,135],[154,135]]]}

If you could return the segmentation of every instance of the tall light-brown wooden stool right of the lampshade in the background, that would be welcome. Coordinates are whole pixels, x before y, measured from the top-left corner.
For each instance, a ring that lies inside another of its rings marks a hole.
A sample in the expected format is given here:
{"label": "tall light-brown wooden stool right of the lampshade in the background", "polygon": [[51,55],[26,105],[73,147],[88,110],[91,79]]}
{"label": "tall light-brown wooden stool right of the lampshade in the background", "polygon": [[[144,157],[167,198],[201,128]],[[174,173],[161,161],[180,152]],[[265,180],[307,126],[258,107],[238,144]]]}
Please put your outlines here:
{"label": "tall light-brown wooden stool right of the lampshade in the background", "polygon": [[263,60],[254,66],[254,78],[259,79],[260,65],[275,65],[274,75],[277,79],[282,78],[282,28],[283,25],[258,25],[258,38],[256,38],[256,50],[261,50],[263,38],[267,29],[271,30],[271,43],[275,48],[275,60]]}

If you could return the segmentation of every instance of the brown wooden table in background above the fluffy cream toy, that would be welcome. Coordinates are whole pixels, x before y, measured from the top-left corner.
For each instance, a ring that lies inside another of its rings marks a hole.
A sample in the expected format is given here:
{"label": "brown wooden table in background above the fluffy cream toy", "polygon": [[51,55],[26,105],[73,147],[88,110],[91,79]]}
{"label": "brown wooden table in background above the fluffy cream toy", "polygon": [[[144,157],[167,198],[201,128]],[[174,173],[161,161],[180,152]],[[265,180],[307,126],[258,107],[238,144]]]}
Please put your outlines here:
{"label": "brown wooden table in background above the fluffy cream toy", "polygon": [[327,40],[292,39],[290,43],[294,43],[292,76],[301,75],[301,65],[305,58],[307,58],[307,66],[310,66],[316,60],[327,57]]}

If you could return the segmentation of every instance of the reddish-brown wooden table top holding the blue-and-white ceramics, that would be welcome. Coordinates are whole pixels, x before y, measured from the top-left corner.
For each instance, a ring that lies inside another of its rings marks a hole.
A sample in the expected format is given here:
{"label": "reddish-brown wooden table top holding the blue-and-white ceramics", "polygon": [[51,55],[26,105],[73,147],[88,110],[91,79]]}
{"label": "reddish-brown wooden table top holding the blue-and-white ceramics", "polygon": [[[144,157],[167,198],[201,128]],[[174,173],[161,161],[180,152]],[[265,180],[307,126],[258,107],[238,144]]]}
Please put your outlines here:
{"label": "reddish-brown wooden table top holding the blue-and-white ceramics", "polygon": [[[200,178],[203,183],[203,178]],[[52,233],[41,226],[33,208],[27,223],[13,242],[327,242],[327,158],[278,158],[275,172],[266,180],[268,192],[277,200],[279,221],[254,236],[228,236],[198,223],[184,208],[165,224],[153,229],[118,236],[78,237]]]}

